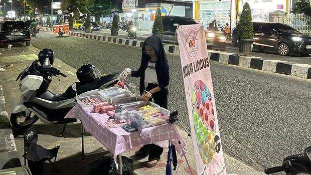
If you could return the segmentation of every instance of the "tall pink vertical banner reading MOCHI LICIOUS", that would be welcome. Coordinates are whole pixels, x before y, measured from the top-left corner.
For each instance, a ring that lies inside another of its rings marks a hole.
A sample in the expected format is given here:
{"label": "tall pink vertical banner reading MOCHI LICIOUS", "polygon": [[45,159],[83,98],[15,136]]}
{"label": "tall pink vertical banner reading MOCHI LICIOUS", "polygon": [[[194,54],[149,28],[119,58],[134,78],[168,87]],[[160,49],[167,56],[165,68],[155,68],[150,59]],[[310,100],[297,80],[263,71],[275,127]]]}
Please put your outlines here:
{"label": "tall pink vertical banner reading MOCHI LICIOUS", "polygon": [[177,30],[198,174],[226,174],[203,26]]}

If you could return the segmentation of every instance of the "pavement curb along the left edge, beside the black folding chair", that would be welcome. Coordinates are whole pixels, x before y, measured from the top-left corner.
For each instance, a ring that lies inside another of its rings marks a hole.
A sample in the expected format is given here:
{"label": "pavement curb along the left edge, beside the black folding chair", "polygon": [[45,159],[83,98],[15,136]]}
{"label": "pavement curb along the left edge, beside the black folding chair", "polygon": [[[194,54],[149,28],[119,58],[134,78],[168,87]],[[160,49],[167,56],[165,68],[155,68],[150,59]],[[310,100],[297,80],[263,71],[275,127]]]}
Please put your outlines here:
{"label": "pavement curb along the left edge, beside the black folding chair", "polygon": [[8,112],[6,111],[6,100],[1,84],[0,106],[0,169],[18,167],[21,166],[21,161],[16,148]]}

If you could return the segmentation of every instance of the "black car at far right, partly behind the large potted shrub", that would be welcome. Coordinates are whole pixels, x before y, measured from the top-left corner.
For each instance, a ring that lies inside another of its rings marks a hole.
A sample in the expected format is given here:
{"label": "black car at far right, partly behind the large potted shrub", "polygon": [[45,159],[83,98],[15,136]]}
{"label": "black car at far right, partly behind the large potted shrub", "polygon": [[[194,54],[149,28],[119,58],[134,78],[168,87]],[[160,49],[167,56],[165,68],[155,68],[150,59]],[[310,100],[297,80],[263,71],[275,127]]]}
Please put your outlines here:
{"label": "black car at far right, partly behind the large potted shrub", "polygon": [[[279,55],[311,54],[311,37],[301,34],[294,28],[280,23],[253,23],[254,49],[274,50]],[[232,32],[236,44],[237,29]]]}

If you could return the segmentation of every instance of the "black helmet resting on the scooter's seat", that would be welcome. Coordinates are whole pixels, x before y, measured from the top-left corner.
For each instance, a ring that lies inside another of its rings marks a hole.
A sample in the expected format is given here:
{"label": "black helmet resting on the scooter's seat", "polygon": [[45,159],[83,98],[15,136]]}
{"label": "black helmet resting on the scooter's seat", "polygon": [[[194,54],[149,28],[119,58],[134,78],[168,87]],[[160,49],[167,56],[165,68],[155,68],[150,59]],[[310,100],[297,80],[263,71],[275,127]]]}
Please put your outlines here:
{"label": "black helmet resting on the scooter's seat", "polygon": [[77,70],[77,78],[81,83],[91,83],[101,76],[96,66],[85,64]]}

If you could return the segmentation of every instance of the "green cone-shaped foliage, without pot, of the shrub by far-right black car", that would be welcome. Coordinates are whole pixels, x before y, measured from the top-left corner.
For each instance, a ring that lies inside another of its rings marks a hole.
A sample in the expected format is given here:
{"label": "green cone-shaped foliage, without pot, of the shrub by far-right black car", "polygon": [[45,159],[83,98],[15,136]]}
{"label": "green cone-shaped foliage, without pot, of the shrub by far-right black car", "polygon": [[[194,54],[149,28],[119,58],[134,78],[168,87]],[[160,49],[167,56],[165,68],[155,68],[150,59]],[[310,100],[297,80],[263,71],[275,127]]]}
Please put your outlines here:
{"label": "green cone-shaped foliage, without pot, of the shrub by far-right black car", "polygon": [[238,39],[253,39],[254,29],[252,14],[248,3],[245,3],[240,17],[238,28]]}

